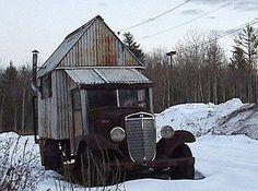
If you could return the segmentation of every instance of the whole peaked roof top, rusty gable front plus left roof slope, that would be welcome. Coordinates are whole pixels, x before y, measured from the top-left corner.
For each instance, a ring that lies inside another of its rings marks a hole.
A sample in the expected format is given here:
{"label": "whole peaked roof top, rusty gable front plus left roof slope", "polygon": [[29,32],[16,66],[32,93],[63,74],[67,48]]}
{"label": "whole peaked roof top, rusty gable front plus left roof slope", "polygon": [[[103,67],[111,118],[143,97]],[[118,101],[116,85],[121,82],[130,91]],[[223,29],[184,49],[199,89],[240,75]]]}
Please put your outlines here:
{"label": "whole peaked roof top, rusty gable front plus left roof slope", "polygon": [[69,34],[38,70],[38,76],[57,67],[141,65],[101,16]]}

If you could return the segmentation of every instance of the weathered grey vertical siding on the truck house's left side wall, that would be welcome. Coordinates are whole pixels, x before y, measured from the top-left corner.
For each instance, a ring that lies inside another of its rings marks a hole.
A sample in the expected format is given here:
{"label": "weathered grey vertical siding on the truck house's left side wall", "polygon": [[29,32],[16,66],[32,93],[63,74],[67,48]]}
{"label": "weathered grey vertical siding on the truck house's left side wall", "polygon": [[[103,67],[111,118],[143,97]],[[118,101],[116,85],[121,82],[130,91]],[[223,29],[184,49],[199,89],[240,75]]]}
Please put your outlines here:
{"label": "weathered grey vertical siding on the truck house's left side wall", "polygon": [[42,99],[38,94],[38,134],[48,139],[69,139],[72,129],[70,89],[74,84],[63,70],[51,72],[52,96]]}

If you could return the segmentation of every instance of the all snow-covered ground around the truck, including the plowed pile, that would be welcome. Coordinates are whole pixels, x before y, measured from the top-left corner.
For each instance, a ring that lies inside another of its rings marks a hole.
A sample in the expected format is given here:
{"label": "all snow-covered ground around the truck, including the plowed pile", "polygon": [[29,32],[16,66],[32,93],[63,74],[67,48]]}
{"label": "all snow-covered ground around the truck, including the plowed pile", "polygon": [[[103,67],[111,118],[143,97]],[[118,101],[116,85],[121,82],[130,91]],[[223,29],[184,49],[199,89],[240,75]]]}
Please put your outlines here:
{"label": "all snow-covered ground around the truck, including the plowed pile", "polygon": [[[232,99],[218,106],[213,104],[178,105],[156,115],[159,129],[168,123],[175,129],[189,130],[199,136],[189,146],[196,157],[196,170],[206,178],[198,180],[131,180],[125,182],[120,190],[257,191],[258,141],[248,138],[258,138],[257,115],[254,105],[243,104],[239,99]],[[13,139],[15,143],[17,138],[19,135],[15,133],[0,134],[0,160],[7,155],[7,152],[3,152],[3,145]],[[19,142],[21,146],[19,151],[23,151],[24,145],[27,144],[27,150],[39,158],[38,146],[33,143],[33,136],[22,136]],[[16,158],[19,157],[16,156]],[[43,170],[40,164],[35,163],[33,167],[33,175],[40,174]],[[0,166],[0,172],[1,170]],[[46,170],[42,177],[37,190],[72,190],[69,183],[60,180],[62,178],[51,170]],[[60,183],[62,186],[59,186]],[[74,190],[86,190],[80,186],[72,187],[75,187]]]}

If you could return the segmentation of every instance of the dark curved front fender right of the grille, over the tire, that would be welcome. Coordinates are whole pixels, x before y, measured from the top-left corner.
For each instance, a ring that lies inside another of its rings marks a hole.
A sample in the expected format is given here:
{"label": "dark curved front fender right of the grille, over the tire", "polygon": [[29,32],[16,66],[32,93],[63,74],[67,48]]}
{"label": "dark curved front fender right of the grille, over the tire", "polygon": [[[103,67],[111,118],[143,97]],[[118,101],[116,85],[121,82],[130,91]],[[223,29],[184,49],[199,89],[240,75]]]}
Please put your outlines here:
{"label": "dark curved front fender right of the grille, over the tire", "polygon": [[196,141],[195,135],[189,131],[178,130],[172,139],[161,139],[156,144],[156,157],[169,157],[173,151],[184,143],[192,143]]}

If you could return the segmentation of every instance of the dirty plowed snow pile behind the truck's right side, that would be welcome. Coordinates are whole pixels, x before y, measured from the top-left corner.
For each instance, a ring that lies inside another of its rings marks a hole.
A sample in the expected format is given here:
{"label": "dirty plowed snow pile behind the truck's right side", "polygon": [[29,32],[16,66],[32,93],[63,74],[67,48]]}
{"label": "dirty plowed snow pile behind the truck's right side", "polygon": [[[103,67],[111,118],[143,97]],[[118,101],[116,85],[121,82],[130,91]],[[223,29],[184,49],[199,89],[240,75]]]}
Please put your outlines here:
{"label": "dirty plowed snow pile behind the truck's right side", "polygon": [[183,104],[156,115],[157,138],[160,129],[169,124],[176,130],[187,130],[196,136],[209,132],[216,134],[246,134],[258,139],[258,108],[233,98],[224,104]]}

